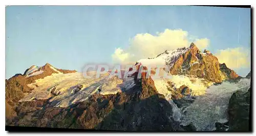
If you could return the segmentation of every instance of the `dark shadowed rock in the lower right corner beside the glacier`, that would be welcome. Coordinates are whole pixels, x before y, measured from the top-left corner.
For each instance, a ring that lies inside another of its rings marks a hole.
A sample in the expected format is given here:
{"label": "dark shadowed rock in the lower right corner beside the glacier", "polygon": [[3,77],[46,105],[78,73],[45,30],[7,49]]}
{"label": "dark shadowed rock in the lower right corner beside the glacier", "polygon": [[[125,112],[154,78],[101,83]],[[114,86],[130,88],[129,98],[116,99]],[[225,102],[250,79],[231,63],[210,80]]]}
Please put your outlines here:
{"label": "dark shadowed rock in the lower right corner beside the glacier", "polygon": [[228,116],[229,131],[250,131],[250,88],[246,93],[238,90],[233,93],[229,100]]}

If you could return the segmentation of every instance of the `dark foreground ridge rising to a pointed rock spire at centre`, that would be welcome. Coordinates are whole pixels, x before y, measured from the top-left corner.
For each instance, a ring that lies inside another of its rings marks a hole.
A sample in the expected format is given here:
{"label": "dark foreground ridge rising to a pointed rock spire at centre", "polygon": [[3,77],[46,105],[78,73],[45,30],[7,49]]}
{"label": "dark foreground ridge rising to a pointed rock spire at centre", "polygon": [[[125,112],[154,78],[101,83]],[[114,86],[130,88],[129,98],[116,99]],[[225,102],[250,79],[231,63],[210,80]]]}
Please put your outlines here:
{"label": "dark foreground ridge rising to a pointed rock spire at centre", "polygon": [[88,101],[66,108],[51,107],[45,101],[23,102],[16,107],[19,116],[6,125],[82,128],[127,131],[185,131],[172,117],[172,106],[158,94],[154,81],[144,78],[129,93],[94,94]]}

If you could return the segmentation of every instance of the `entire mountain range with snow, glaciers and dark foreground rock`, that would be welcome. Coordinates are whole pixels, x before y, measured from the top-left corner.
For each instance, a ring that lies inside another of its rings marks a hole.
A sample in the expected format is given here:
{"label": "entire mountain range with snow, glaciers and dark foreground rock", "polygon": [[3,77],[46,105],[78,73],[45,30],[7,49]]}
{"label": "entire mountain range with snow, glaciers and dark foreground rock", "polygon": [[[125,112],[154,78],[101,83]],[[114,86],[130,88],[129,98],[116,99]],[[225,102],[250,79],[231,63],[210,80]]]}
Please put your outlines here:
{"label": "entire mountain range with snow, glaciers and dark foreground rock", "polygon": [[[146,78],[145,72],[138,78],[139,66],[147,70],[150,64],[168,65],[171,78]],[[121,131],[250,130],[250,73],[246,78],[239,76],[210,51],[200,52],[194,43],[140,59],[135,66],[137,72],[126,79],[109,77],[109,73],[86,79],[82,73],[49,63],[32,65],[24,74],[5,80],[6,125]]]}

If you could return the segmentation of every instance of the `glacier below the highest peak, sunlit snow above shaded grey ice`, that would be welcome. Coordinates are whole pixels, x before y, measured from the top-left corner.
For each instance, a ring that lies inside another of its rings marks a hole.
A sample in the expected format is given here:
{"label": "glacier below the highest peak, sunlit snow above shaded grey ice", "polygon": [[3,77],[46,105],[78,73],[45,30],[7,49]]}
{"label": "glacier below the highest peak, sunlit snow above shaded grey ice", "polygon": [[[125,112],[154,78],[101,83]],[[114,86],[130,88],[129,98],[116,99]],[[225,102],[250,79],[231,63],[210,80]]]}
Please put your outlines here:
{"label": "glacier below the highest peak, sunlit snow above shaded grey ice", "polygon": [[[183,76],[179,77],[179,82],[177,82],[178,80],[175,82],[177,87],[186,82],[183,78]],[[203,88],[196,90],[192,89],[191,93],[194,92],[193,96],[196,98],[194,99],[194,102],[186,103],[184,106],[178,108],[172,100],[172,94],[166,88],[167,81],[172,80],[154,80],[158,93],[164,95],[165,99],[173,108],[173,115],[171,118],[183,126],[193,123],[198,131],[212,131],[215,130],[216,122],[227,122],[227,108],[231,95],[237,90],[246,92],[250,87],[250,79],[247,78],[242,78],[238,82],[224,81],[219,85],[210,84],[207,88],[206,86],[203,86],[199,82],[201,80],[198,79],[198,82],[194,82],[193,84],[195,86],[202,86]],[[192,83],[185,85],[191,87],[191,84]]]}

